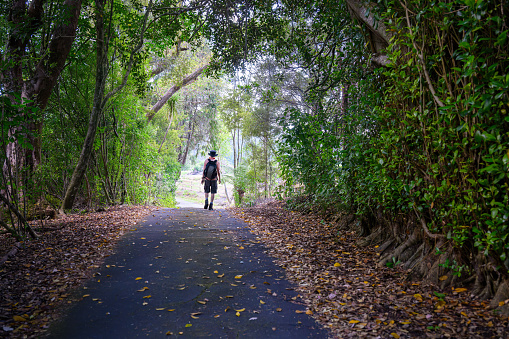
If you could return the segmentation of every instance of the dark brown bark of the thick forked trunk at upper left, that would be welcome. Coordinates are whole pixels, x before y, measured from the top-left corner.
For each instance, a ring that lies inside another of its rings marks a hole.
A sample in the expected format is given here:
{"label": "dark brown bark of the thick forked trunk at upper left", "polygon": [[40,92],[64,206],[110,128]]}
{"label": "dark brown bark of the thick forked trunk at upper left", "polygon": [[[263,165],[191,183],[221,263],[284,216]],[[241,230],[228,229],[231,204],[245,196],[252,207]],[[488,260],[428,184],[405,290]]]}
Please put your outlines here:
{"label": "dark brown bark of the thick forked trunk at upper left", "polygon": [[[82,0],[67,0],[63,4],[65,16],[68,18],[55,27],[53,36],[49,42],[45,54],[38,60],[34,69],[26,69],[30,63],[26,62],[27,46],[30,39],[42,24],[44,14],[44,0],[35,0],[26,7],[26,1],[18,0],[12,3],[8,20],[12,24],[5,57],[12,61],[12,66],[1,74],[1,81],[6,92],[11,95],[11,101],[18,103],[12,96],[14,93],[21,94],[21,100],[33,100],[29,103],[43,110],[55,87],[58,77],[62,72],[67,57],[71,51],[78,26]],[[24,80],[23,76],[32,74],[32,77]],[[36,136],[42,130],[41,121],[28,121],[28,137],[33,149],[22,149],[18,143],[8,147],[8,158],[11,159],[14,170],[21,166],[35,168],[41,160],[41,142]],[[14,133],[15,131],[11,131]]]}

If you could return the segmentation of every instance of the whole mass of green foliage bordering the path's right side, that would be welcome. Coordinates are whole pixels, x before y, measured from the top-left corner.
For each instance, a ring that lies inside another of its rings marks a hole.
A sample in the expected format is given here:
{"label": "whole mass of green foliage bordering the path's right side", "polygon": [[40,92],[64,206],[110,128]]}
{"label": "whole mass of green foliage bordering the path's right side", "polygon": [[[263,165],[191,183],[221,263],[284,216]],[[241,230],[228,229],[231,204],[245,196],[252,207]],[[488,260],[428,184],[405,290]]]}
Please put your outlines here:
{"label": "whole mass of green foliage bordering the path's right side", "polygon": [[[295,29],[287,46],[299,50],[300,65],[309,61],[313,108],[289,108],[283,120],[279,161],[288,189],[303,185],[324,206],[361,220],[383,215],[407,232],[422,220],[465,262],[466,253],[479,251],[507,271],[509,45],[502,6],[380,1],[373,10],[392,39],[389,65],[379,70],[359,64],[360,40],[341,45],[337,67],[320,52],[333,48],[330,39],[320,40],[319,50],[299,38],[306,25]],[[316,27],[340,15],[306,22]],[[352,32],[349,25],[341,27]]]}

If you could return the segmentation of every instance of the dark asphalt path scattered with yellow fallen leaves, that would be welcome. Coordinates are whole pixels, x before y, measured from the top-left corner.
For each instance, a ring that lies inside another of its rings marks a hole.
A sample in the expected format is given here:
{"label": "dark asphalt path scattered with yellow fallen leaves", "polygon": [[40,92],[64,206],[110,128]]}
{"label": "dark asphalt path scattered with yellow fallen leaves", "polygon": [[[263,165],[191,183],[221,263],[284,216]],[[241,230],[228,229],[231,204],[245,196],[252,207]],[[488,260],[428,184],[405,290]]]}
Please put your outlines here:
{"label": "dark asphalt path scattered with yellow fallen leaves", "polygon": [[122,238],[50,337],[326,338],[298,313],[305,307],[263,251],[225,211],[153,212]]}

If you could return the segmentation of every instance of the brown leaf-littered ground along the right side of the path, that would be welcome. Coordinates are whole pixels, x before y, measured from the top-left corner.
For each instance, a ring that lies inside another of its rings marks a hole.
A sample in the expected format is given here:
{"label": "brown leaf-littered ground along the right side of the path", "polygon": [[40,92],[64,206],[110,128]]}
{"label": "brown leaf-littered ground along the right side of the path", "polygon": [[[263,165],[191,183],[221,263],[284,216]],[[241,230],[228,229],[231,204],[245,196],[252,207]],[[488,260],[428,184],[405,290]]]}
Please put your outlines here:
{"label": "brown leaf-littered ground along the right side of the path", "polygon": [[[338,338],[507,338],[509,321],[465,288],[442,291],[377,268],[375,247],[281,203],[236,209],[299,286],[313,316]],[[506,302],[509,302],[507,300]],[[309,313],[311,313],[309,312]]]}

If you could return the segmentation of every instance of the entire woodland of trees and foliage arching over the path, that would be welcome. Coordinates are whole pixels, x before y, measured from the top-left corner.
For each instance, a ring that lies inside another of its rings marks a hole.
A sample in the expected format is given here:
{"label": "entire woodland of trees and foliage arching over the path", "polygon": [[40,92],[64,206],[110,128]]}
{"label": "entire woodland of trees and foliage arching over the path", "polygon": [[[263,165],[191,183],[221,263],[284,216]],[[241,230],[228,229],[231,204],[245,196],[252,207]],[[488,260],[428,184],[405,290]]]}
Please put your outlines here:
{"label": "entire woodland of trees and foliage arching over the path", "polygon": [[223,147],[237,203],[305,196],[347,215],[380,265],[509,298],[506,1],[0,11],[1,226],[14,237],[36,236],[26,219],[41,204],[171,206],[183,166]]}

